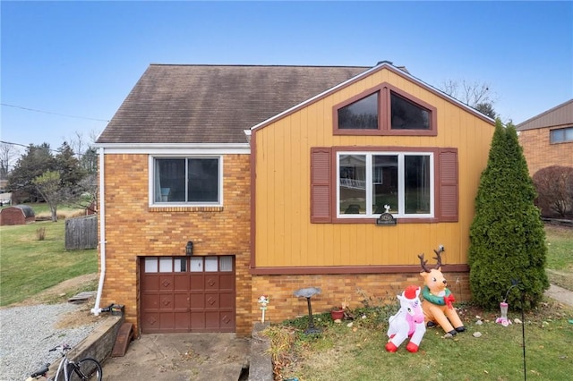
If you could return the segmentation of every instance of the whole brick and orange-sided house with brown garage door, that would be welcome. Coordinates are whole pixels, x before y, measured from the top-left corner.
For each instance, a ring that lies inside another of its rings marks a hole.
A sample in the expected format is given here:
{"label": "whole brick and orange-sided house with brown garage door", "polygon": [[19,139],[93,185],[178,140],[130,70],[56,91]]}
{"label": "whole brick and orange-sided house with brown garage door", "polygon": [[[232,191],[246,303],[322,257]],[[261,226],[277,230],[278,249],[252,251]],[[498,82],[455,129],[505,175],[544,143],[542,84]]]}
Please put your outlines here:
{"label": "whole brick and orange-sided house with brown garage door", "polygon": [[[422,284],[469,297],[492,119],[382,62],[153,64],[99,136],[100,306],[136,332],[251,334]],[[389,206],[388,218],[381,218]],[[396,224],[392,224],[392,223]]]}

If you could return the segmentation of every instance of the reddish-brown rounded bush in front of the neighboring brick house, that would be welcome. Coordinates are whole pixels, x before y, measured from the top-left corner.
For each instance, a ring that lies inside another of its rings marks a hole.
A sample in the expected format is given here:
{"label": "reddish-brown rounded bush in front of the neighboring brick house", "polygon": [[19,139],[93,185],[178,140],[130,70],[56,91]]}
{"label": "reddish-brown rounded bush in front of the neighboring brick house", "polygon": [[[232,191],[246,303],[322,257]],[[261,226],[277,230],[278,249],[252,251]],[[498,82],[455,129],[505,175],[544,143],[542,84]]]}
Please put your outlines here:
{"label": "reddish-brown rounded bush in front of the neighboring brick house", "polygon": [[551,165],[534,174],[537,205],[543,216],[573,213],[573,167]]}

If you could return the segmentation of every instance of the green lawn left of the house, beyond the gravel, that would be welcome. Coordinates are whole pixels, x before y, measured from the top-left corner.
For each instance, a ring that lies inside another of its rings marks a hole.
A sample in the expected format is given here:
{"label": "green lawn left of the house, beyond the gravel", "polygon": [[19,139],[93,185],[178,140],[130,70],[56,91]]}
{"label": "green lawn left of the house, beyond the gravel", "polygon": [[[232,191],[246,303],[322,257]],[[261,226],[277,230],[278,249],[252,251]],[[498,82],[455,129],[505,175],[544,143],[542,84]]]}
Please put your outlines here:
{"label": "green lawn left of the house, beyond the gravel", "polygon": [[[43,213],[41,207],[32,207],[36,216]],[[64,213],[65,209],[62,216]],[[0,226],[0,306],[24,301],[65,280],[98,271],[98,250],[64,249],[64,226],[64,218],[56,223]],[[43,241],[38,240],[41,229]],[[86,285],[86,290],[90,287],[93,289],[92,284]]]}

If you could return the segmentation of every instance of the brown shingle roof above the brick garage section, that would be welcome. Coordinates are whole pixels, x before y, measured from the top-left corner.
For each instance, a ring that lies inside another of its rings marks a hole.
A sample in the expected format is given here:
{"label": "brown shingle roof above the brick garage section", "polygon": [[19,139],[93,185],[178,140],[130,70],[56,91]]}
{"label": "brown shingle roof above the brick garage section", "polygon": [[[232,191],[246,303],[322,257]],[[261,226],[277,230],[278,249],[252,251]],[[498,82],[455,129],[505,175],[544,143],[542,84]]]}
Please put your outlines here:
{"label": "brown shingle roof above the brick garage section", "polygon": [[151,64],[97,143],[244,143],[245,129],[368,69]]}

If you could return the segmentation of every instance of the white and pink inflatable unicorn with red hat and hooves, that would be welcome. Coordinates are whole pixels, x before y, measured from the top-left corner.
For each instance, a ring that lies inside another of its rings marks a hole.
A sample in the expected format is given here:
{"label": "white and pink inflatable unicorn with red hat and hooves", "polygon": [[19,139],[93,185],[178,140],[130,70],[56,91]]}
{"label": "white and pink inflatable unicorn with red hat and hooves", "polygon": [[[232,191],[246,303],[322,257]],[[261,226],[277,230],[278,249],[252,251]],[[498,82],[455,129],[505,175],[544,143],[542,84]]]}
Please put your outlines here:
{"label": "white and pink inflatable unicorn with red hat and hooves", "polygon": [[398,295],[400,309],[398,313],[388,319],[388,337],[386,351],[398,351],[401,343],[410,337],[406,350],[418,351],[423,334],[426,332],[424,325],[423,310],[419,299],[420,287],[407,286],[402,295]]}

